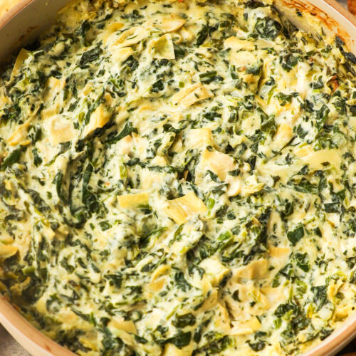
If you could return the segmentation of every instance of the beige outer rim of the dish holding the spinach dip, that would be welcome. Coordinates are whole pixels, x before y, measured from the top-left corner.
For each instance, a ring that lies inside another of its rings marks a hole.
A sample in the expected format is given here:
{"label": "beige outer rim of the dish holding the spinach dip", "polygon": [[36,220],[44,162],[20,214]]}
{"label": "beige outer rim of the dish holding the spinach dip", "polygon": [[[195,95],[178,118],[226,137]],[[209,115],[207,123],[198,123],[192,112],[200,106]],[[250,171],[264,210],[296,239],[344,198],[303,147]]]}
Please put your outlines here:
{"label": "beige outer rim of the dish holding the spinach dip", "polygon": [[[0,18],[0,31],[6,23],[8,23],[16,14],[26,8],[34,0],[21,0],[9,11],[6,11],[4,16]],[[295,0],[293,0],[295,1]],[[297,2],[298,0],[296,0]],[[350,14],[344,7],[335,0],[320,0],[325,3],[325,6],[331,6],[337,11],[343,19],[352,24],[355,28],[355,33],[348,33],[352,41],[356,41],[356,17]],[[69,2],[69,1],[68,1]],[[317,6],[310,4],[313,9],[318,9]],[[330,18],[330,16],[328,16]],[[342,25],[337,23],[340,28]],[[36,356],[75,356],[65,347],[62,347],[57,342],[46,337],[41,331],[34,328],[21,314],[9,303],[4,296],[0,295],[0,323],[4,328],[32,355]],[[304,356],[327,356],[333,355],[334,352],[340,350],[347,342],[356,336],[356,312],[342,323],[340,328],[313,347]]]}

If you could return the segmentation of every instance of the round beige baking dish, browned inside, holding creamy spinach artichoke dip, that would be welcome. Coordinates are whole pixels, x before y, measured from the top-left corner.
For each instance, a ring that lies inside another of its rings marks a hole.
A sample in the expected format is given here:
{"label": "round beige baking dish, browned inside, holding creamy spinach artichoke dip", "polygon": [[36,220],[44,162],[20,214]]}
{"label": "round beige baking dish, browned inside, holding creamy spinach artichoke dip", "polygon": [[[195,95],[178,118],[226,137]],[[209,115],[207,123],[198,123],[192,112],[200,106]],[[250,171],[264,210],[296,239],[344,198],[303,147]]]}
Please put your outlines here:
{"label": "round beige baking dish, browned inside, holding creamy spinach artichoke dip", "polygon": [[[25,43],[33,41],[55,19],[58,9],[68,0],[21,0],[0,18],[0,41],[2,43],[0,62]],[[313,31],[312,23],[323,23],[330,34],[340,36],[350,51],[356,53],[356,18],[335,0],[275,0],[281,11],[296,26]],[[295,11],[308,13],[308,21],[300,23]],[[74,356],[73,352],[61,347],[53,340],[33,328],[18,311],[0,295],[0,323],[33,356]],[[356,313],[350,316],[340,328],[309,350],[304,356],[332,356],[356,337]]]}

